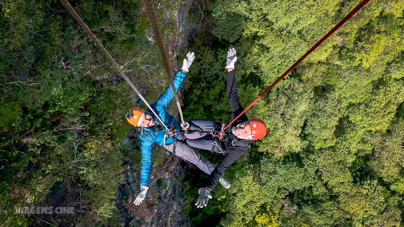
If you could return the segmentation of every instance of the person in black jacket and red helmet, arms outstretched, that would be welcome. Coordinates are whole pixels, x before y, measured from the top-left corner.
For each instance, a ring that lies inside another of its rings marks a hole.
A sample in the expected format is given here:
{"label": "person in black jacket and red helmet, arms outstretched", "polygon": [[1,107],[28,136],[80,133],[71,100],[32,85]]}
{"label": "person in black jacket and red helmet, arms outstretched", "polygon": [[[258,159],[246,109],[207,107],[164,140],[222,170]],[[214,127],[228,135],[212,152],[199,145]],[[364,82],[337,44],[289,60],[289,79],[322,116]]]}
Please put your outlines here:
{"label": "person in black jacket and red helmet, arms outstretched", "polygon": [[[236,60],[236,50],[229,49],[225,67],[227,69],[227,95],[233,112],[229,123],[244,110],[238,99],[233,71]],[[208,205],[208,200],[212,198],[210,191],[224,176],[225,169],[247,151],[252,141],[261,139],[267,134],[267,126],[262,120],[248,119],[245,113],[224,132],[222,132],[224,125],[215,121],[193,119],[190,120],[189,125],[188,133],[184,135],[188,145],[225,154],[211,173],[208,185],[198,189],[199,196],[195,205],[201,208]]]}

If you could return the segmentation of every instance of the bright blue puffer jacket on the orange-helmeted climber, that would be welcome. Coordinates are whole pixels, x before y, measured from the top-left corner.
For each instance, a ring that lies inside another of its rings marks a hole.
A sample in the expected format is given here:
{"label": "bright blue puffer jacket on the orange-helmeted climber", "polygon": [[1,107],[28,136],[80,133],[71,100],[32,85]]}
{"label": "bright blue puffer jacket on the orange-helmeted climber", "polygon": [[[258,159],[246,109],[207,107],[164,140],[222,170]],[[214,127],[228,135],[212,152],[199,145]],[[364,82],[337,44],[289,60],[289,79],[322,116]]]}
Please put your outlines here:
{"label": "bright blue puffer jacket on the orange-helmeted climber", "polygon": [[[181,85],[182,81],[185,78],[185,73],[183,73],[181,70],[177,72],[177,74],[174,77],[174,86],[175,90],[178,91],[179,86]],[[164,124],[168,128],[171,128],[173,125],[175,125],[175,129],[180,129],[178,122],[175,121],[175,118],[166,111],[166,107],[168,103],[171,101],[171,99],[174,97],[173,89],[171,88],[171,84],[167,87],[167,89],[164,91],[164,93],[157,99],[156,103],[151,104],[151,108],[156,111],[156,113],[159,115],[162,121],[164,121]],[[147,112],[153,116],[153,118],[156,121],[156,124],[159,122],[159,120],[156,118],[156,116],[151,112],[150,110],[147,110]],[[154,127],[148,127],[144,128],[146,131],[153,131]],[[150,171],[151,171],[151,151],[152,151],[152,144],[153,143],[158,143],[159,145],[164,144],[164,135],[166,134],[165,131],[158,131],[158,132],[150,132],[150,133],[144,133],[140,134],[140,150],[142,153],[142,158],[140,160],[140,185],[147,186],[148,181],[150,179]],[[177,138],[178,134],[174,135],[174,138]],[[174,138],[169,138],[166,139],[166,144],[170,144],[174,142]]]}

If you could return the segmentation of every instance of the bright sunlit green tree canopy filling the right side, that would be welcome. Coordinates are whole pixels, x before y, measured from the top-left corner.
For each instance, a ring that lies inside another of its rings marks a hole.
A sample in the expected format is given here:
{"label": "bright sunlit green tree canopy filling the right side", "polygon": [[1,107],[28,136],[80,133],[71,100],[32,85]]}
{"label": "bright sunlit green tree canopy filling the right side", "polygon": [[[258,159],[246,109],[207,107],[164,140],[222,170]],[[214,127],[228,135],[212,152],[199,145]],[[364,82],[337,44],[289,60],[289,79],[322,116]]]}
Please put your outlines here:
{"label": "bright sunlit green tree canopy filling the right side", "polygon": [[[222,72],[227,48],[237,49],[235,73],[245,107],[359,2],[208,5],[212,34],[203,27],[191,41],[200,59],[194,63],[198,72],[189,75],[185,114],[229,118]],[[401,6],[369,2],[338,29],[344,45],[331,36],[247,111],[266,122],[268,133],[226,170],[232,197],[215,195],[225,204],[222,225],[400,225]],[[219,206],[212,202],[204,212]]]}

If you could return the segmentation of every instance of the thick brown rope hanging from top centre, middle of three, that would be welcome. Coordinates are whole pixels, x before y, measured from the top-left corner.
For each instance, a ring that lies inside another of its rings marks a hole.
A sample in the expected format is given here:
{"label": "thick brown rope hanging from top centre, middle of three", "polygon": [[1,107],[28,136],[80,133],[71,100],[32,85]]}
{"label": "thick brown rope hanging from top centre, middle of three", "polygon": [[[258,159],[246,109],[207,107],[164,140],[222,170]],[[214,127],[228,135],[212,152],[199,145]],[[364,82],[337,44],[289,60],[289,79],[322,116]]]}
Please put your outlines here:
{"label": "thick brown rope hanging from top centre, middle of three", "polygon": [[157,45],[159,46],[159,49],[160,49],[161,58],[163,59],[163,64],[164,64],[164,67],[166,68],[167,75],[168,75],[169,81],[171,83],[171,88],[173,89],[175,101],[177,103],[178,111],[180,113],[180,118],[181,118],[181,122],[182,122],[181,125],[185,125],[184,117],[182,116],[180,101],[178,99],[177,92],[175,91],[175,86],[174,86],[174,81],[173,81],[173,76],[172,76],[173,73],[171,72],[170,65],[168,64],[166,50],[163,46],[163,39],[161,38],[159,26],[158,26],[157,20],[156,20],[155,11],[153,9],[153,3],[151,3],[151,0],[144,0],[144,4],[146,5],[147,16],[150,21],[151,27],[153,27]]}

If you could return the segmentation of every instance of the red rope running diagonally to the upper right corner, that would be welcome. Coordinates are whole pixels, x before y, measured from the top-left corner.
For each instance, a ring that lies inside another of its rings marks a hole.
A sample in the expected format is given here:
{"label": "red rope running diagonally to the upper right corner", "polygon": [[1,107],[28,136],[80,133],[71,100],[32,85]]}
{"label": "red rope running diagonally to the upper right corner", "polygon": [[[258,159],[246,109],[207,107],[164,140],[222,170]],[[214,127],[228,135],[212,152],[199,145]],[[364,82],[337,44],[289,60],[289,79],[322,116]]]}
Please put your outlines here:
{"label": "red rope running diagonally to the upper right corner", "polygon": [[363,6],[365,6],[369,0],[363,0],[357,7],[355,7],[348,15],[346,15],[335,27],[333,27],[327,34],[324,35],[312,48],[310,48],[297,62],[295,62],[286,72],[282,74],[274,83],[272,83],[263,93],[261,93],[254,101],[251,102],[236,118],[231,121],[225,130],[231,126],[243,113],[245,113],[252,105],[254,105],[258,100],[260,100],[265,94],[268,93],[279,81],[281,81],[287,74],[289,74],[301,61],[303,61],[313,50],[315,50],[321,43],[324,42],[332,33],[334,33],[339,27],[341,27],[349,18],[354,16]]}

